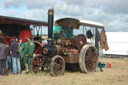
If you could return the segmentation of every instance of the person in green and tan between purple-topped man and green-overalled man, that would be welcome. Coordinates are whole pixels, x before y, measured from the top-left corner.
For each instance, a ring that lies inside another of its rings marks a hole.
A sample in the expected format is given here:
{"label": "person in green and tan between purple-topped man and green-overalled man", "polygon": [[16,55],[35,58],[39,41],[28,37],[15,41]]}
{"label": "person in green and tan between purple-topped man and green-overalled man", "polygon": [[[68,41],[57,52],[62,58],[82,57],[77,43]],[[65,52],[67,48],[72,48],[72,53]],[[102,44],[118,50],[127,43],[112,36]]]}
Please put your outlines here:
{"label": "person in green and tan between purple-topped man and green-overalled man", "polygon": [[21,70],[24,70],[23,58],[24,58],[25,44],[22,38],[19,38],[18,51],[20,53]]}

